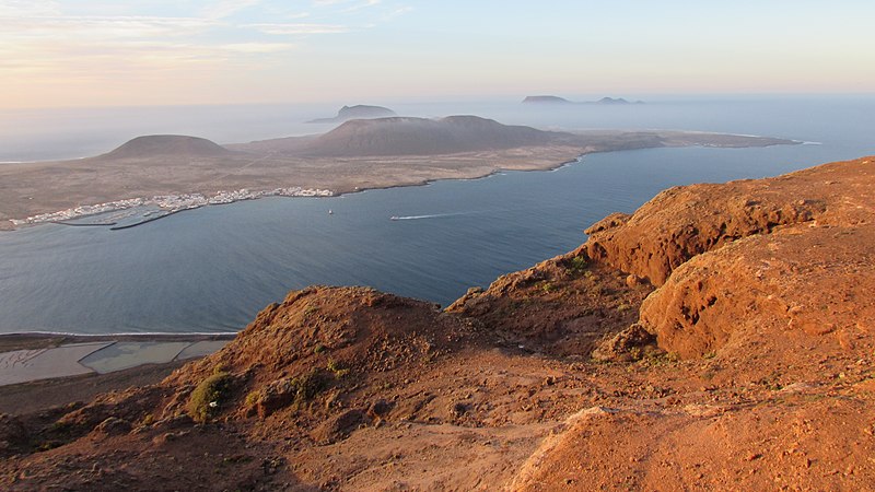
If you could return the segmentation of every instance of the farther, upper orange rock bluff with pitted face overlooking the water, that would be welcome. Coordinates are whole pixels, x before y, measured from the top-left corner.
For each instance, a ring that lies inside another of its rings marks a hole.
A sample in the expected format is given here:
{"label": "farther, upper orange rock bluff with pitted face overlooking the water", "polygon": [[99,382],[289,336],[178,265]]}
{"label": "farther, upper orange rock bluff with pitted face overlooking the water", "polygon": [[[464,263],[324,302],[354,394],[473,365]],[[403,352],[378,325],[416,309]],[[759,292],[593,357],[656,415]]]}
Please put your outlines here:
{"label": "farther, upper orange rock bluff with pitted face overlooking the water", "polygon": [[662,285],[690,258],[742,237],[794,224],[865,221],[871,210],[847,200],[871,203],[871,167],[863,159],[771,179],[670,188],[631,216],[611,214],[587,229],[586,251]]}

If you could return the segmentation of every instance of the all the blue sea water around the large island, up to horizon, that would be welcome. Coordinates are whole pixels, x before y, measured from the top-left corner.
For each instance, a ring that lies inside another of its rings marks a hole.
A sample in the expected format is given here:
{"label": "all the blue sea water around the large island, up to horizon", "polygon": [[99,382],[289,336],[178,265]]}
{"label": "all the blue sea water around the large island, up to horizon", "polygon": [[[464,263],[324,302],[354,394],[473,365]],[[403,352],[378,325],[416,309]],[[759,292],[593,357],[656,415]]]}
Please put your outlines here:
{"label": "all the blue sea water around the large island, up to horizon", "polygon": [[[331,126],[304,121],[332,116],[340,105],[0,110],[0,162],[96,155],[140,134],[232,143],[319,133]],[[44,224],[0,232],[0,333],[234,332],[290,290],[311,284],[369,285],[445,306],[470,286],[574,249],[590,224],[632,212],[665,188],[875,154],[873,95],[385,105],[401,115],[475,114],[542,129],[700,130],[804,143],[590,154],[548,172],[265,198],[121,231]]]}

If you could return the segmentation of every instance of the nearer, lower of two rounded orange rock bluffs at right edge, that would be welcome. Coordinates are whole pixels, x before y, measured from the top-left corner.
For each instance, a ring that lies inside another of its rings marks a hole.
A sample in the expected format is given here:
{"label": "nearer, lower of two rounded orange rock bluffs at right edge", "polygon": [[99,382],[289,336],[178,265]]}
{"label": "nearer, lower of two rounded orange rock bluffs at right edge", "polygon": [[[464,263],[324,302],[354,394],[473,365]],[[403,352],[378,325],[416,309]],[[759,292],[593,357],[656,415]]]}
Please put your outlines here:
{"label": "nearer, lower of two rounded orange rock bluffs at right edge", "polygon": [[779,355],[804,335],[856,338],[875,327],[873,265],[875,224],[748,237],[675,270],[645,300],[641,324],[686,358],[731,342],[758,340],[759,352]]}

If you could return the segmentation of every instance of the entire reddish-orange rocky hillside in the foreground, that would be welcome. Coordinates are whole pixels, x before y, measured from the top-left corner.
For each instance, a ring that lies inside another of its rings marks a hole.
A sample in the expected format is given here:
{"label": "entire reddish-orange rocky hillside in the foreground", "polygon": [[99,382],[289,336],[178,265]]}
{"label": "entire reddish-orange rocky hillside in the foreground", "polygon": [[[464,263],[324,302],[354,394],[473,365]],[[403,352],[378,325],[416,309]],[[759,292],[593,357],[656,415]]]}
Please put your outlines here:
{"label": "entire reddish-orange rocky hillside in the foreground", "polygon": [[872,490],[875,157],[673,188],[445,311],[311,288],[0,418],[11,490]]}

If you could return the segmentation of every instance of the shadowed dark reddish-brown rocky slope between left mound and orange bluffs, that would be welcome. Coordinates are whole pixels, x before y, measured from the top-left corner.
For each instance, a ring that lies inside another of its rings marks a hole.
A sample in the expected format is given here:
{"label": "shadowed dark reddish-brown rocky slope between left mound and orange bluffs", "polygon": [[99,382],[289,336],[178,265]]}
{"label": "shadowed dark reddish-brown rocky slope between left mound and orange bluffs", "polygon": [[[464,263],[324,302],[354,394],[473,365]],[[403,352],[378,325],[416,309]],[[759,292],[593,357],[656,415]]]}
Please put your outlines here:
{"label": "shadowed dark reddish-brown rocky slope between left mound and orange bluffs", "polygon": [[504,343],[550,355],[588,359],[606,338],[638,318],[652,291],[578,250],[472,289],[447,312],[476,319]]}

